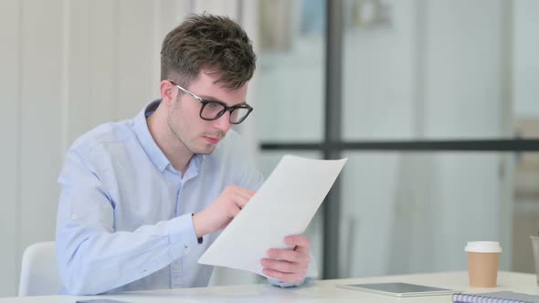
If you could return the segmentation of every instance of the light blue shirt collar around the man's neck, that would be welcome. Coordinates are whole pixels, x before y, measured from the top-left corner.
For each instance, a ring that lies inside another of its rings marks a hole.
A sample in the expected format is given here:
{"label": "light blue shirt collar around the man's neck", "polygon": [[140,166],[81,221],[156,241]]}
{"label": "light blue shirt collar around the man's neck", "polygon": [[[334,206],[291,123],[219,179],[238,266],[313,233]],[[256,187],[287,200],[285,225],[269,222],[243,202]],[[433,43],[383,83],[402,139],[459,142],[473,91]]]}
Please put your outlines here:
{"label": "light blue shirt collar around the man's neck", "polygon": [[[148,122],[146,120],[147,117],[150,117],[153,114],[153,111],[157,110],[157,107],[159,107],[160,103],[161,99],[153,100],[152,102],[150,102],[150,104],[145,106],[143,110],[141,110],[141,112],[134,118],[134,131],[137,134],[141,145],[143,146],[143,150],[153,162],[153,165],[160,172],[164,172],[169,165],[172,168],[172,165],[164,155],[163,151],[161,151],[159,146],[157,146],[155,141],[153,141],[153,137],[150,133],[150,130],[148,129]],[[196,172],[200,172],[202,162],[205,158],[206,155],[196,153],[193,158],[191,158],[189,165],[195,164],[194,166]]]}

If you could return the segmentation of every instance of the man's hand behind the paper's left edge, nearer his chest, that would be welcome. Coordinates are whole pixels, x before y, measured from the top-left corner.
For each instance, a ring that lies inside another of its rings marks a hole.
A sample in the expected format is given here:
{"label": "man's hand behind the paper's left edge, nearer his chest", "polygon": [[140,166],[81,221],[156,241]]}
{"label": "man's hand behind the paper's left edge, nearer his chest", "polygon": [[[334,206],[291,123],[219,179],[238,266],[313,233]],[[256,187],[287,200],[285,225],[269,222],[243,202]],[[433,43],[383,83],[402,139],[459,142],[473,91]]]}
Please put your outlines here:
{"label": "man's hand behind the paper's left edge, nearer his chest", "polygon": [[239,186],[228,186],[216,201],[193,216],[196,237],[225,228],[254,194],[255,192]]}

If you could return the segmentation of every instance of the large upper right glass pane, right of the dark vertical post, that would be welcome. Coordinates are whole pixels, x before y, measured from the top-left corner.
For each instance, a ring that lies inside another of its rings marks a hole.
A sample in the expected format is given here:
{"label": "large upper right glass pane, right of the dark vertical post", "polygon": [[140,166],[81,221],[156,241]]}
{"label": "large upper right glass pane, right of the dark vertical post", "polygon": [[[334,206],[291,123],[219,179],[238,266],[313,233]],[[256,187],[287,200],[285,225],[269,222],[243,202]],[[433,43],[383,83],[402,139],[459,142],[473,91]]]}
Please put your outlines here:
{"label": "large upper right glass pane, right of the dark vertical post", "polygon": [[539,120],[536,1],[344,3],[346,140],[500,138]]}

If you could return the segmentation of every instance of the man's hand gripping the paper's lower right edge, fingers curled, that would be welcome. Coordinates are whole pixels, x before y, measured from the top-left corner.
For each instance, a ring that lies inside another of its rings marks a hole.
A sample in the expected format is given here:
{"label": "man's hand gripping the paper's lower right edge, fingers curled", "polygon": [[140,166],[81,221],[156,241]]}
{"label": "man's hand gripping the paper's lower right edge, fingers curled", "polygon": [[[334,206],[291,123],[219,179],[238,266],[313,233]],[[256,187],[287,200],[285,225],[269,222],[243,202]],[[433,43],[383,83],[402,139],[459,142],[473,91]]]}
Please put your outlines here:
{"label": "man's hand gripping the paper's lower right edge, fingers curled", "polygon": [[305,235],[289,235],[284,243],[294,249],[271,248],[268,257],[260,260],[264,266],[262,272],[285,283],[298,283],[305,277],[311,262],[311,242]]}

